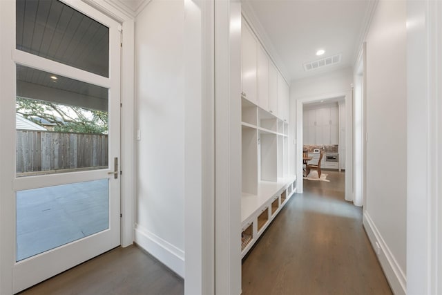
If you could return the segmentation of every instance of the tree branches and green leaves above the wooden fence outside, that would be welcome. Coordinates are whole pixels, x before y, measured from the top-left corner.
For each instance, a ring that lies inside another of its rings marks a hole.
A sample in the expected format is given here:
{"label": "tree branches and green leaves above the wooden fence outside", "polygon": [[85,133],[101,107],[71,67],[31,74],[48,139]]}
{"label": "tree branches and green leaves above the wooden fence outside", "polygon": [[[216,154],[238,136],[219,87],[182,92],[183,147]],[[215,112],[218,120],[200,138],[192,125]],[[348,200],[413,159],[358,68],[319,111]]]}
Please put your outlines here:
{"label": "tree branches and green leaves above the wooden fence outside", "polygon": [[108,113],[79,106],[66,106],[40,100],[17,97],[17,113],[44,127],[44,119],[53,125],[53,130],[72,133],[108,133]]}

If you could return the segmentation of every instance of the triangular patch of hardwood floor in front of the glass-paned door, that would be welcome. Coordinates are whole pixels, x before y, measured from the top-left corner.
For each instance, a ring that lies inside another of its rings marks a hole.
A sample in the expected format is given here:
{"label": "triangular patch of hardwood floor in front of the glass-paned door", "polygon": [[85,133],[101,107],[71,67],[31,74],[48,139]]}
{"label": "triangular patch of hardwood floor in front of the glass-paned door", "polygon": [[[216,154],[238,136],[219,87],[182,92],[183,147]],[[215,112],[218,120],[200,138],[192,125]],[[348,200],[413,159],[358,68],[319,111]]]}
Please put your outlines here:
{"label": "triangular patch of hardwood floor in front of the glass-paned door", "polygon": [[118,247],[20,294],[182,295],[184,280],[140,248]]}

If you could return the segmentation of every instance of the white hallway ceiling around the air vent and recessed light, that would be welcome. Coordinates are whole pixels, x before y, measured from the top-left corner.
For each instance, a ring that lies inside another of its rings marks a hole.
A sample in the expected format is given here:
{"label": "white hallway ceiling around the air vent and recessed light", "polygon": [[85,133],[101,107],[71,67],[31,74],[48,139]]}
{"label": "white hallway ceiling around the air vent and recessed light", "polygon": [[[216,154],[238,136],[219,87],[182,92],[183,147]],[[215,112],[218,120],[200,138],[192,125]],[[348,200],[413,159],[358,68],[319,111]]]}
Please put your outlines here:
{"label": "white hallway ceiling around the air vent and recessed light", "polygon": [[[374,0],[244,0],[243,12],[260,30],[288,80],[353,66]],[[325,54],[316,56],[316,50]],[[342,53],[340,64],[305,72],[302,64]]]}

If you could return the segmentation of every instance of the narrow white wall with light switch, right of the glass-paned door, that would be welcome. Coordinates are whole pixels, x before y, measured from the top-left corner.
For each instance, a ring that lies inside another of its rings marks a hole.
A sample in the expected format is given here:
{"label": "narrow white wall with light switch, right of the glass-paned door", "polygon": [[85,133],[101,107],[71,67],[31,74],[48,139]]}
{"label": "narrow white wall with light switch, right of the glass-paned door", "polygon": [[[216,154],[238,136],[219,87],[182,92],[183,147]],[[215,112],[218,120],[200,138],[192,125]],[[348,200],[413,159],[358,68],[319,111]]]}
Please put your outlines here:
{"label": "narrow white wall with light switch, right of the glass-paned door", "polygon": [[135,242],[184,276],[184,1],[135,20]]}

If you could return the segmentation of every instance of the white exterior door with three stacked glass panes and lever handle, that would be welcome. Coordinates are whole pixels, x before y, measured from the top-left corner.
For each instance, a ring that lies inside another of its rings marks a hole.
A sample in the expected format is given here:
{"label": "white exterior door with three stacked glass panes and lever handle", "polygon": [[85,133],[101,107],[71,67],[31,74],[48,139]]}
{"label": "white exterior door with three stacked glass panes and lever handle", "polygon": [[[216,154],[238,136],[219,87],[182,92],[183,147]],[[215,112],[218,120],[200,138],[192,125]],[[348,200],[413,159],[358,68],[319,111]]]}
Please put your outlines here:
{"label": "white exterior door with three stacked glass panes and lever handle", "polygon": [[19,292],[120,245],[121,34],[81,1],[11,3],[15,214],[2,222]]}

